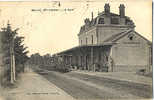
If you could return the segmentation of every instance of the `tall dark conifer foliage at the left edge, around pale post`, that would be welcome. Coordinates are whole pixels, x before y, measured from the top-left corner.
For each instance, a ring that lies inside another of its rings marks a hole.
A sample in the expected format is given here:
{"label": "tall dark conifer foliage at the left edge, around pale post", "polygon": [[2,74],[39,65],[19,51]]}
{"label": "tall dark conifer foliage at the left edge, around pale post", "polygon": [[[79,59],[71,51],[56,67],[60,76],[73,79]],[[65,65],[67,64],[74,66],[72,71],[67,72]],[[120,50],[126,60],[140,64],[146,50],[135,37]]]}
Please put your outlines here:
{"label": "tall dark conifer foliage at the left edge, around pale post", "polygon": [[[12,30],[10,24],[7,25],[6,28],[2,28],[2,52],[3,52],[3,64],[5,67],[5,76],[8,80],[10,80],[10,70],[11,70],[11,48],[13,48],[14,56],[15,56],[15,66],[16,69],[19,69],[16,75],[23,70],[21,68],[21,64],[24,64],[28,60],[26,50],[27,47],[24,47],[23,37],[18,36],[19,29]],[[16,70],[17,71],[17,70]]]}

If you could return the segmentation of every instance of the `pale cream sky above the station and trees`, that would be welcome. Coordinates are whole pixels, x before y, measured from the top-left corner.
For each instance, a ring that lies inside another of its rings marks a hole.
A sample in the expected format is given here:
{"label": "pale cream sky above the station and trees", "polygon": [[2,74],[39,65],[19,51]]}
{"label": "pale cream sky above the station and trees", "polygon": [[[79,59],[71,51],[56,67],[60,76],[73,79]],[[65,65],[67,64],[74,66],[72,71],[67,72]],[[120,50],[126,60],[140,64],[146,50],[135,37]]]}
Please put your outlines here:
{"label": "pale cream sky above the station and trees", "polygon": [[0,2],[0,26],[6,27],[9,20],[12,29],[20,28],[18,33],[25,37],[29,55],[54,54],[78,46],[77,34],[84,19],[91,19],[91,12],[96,17],[104,11],[105,3],[117,14],[119,5],[124,4],[125,15],[134,21],[135,30],[152,41],[151,0]]}

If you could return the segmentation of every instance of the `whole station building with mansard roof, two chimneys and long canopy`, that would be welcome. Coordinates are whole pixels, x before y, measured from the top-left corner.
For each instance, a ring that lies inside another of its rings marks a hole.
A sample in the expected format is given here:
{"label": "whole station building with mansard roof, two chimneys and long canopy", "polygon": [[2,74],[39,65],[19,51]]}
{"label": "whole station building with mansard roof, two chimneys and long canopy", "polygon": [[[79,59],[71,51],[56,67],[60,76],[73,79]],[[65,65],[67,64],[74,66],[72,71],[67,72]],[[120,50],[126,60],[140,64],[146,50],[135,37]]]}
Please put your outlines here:
{"label": "whole station building with mansard roof, two chimneys and long canopy", "polygon": [[119,14],[104,11],[96,18],[86,18],[78,34],[79,46],[58,55],[65,64],[81,70],[137,71],[152,70],[152,43],[135,31],[134,22],[125,16],[120,4]]}

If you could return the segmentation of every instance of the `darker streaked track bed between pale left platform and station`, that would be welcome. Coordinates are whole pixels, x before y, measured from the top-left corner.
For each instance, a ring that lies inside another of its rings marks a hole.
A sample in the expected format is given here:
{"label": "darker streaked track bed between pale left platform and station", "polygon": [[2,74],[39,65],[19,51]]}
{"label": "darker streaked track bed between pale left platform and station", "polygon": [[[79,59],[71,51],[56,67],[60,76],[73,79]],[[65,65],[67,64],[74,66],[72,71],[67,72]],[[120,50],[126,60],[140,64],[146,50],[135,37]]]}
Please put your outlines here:
{"label": "darker streaked track bed between pale left platform and station", "polygon": [[75,99],[145,99],[152,97],[152,86],[81,73],[50,71],[43,75]]}

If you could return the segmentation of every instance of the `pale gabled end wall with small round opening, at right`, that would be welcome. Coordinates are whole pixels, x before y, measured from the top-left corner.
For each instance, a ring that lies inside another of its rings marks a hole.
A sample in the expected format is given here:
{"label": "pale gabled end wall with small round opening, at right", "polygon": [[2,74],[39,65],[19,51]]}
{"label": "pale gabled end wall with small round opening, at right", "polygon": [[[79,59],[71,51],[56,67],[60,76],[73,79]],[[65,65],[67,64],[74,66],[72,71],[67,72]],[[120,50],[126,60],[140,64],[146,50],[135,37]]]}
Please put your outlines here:
{"label": "pale gabled end wall with small round opening, at right", "polygon": [[134,34],[133,40],[128,38],[128,34],[112,47],[112,58],[115,63],[114,71],[137,71],[144,68],[148,70],[149,45],[146,40],[134,32],[130,34]]}

